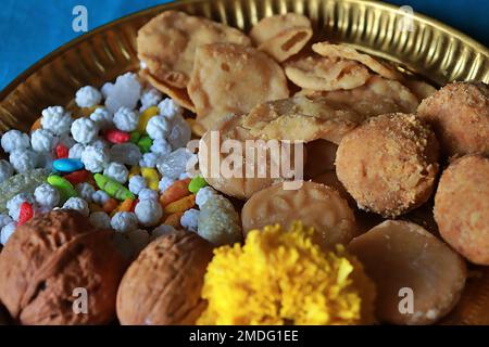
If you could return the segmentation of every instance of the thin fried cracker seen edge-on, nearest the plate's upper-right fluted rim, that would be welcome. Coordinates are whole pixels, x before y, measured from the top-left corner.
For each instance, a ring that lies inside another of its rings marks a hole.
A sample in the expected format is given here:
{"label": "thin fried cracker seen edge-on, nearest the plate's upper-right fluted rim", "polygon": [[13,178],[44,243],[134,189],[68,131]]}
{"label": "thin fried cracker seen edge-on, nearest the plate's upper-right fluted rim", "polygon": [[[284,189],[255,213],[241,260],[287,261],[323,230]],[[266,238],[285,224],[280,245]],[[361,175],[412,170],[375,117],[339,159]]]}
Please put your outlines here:
{"label": "thin fried cracker seen edge-on, nearest the plate's upper-right fluted rim", "polygon": [[358,61],[385,78],[397,80],[402,79],[401,74],[394,70],[390,65],[377,61],[372,55],[360,53],[354,48],[343,44],[333,44],[329,42],[318,42],[314,43],[312,49],[314,52],[323,56]]}

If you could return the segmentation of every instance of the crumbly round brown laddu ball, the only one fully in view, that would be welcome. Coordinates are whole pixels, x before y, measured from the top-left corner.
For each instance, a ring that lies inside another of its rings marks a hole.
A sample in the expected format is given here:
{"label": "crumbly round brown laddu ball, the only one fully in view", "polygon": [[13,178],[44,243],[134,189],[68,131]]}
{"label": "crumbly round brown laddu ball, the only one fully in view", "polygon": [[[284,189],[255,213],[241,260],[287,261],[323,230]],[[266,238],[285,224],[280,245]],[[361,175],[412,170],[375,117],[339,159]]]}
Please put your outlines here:
{"label": "crumbly round brown laddu ball, the only one fully in view", "polygon": [[396,217],[431,195],[438,142],[416,116],[369,118],[343,137],[336,154],[339,180],[360,208]]}

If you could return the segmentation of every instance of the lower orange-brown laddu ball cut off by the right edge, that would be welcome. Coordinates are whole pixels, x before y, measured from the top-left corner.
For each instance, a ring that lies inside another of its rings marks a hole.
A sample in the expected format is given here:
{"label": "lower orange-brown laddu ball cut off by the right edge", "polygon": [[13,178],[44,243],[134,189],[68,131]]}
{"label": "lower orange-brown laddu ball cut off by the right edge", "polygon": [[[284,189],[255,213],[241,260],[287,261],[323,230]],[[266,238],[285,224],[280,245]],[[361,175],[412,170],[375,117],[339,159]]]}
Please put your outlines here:
{"label": "lower orange-brown laddu ball cut off by the right edge", "polygon": [[434,211],[444,241],[472,262],[489,265],[489,158],[466,155],[450,164]]}

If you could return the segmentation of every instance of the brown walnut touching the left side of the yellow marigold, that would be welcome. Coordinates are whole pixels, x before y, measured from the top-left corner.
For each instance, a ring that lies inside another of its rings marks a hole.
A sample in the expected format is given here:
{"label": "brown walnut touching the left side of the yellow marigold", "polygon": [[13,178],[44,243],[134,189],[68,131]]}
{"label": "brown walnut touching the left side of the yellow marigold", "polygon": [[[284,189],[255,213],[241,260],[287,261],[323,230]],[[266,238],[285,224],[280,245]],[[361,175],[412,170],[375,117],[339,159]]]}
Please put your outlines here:
{"label": "brown walnut touching the left side of the yellow marigold", "polygon": [[212,245],[193,232],[176,231],[150,243],[121,282],[121,324],[195,324],[206,307],[200,294],[212,254]]}

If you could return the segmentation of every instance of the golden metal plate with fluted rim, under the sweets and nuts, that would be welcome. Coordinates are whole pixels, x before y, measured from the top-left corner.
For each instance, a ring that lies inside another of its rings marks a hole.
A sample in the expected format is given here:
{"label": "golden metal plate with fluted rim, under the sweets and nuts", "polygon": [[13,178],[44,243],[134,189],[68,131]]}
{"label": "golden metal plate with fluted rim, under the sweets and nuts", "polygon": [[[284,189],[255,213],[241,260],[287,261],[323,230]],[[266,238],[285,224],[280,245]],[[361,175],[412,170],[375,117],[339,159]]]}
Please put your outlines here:
{"label": "golden metal plate with fluted rim, under the sweets and nuts", "polygon": [[[0,92],[0,130],[27,130],[49,105],[64,105],[86,85],[101,86],[136,69],[136,34],[158,13],[175,9],[248,31],[262,17],[298,12],[321,39],[352,44],[397,63],[436,85],[452,80],[489,82],[489,50],[453,28],[414,14],[413,29],[398,8],[362,0],[190,0],[152,8],[112,22],[63,46]],[[39,38],[42,39],[42,38]],[[489,324],[489,269],[478,268],[448,324]]]}

